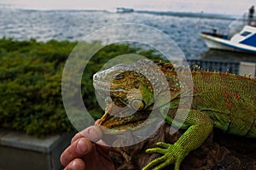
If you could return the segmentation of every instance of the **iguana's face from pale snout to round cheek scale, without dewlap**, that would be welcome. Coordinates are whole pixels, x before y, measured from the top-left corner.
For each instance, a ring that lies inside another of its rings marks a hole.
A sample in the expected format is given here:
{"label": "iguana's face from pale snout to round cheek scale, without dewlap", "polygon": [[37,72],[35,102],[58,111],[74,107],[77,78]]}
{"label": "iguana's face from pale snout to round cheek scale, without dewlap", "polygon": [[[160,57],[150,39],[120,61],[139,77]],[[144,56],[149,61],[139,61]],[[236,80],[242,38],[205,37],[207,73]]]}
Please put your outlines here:
{"label": "iguana's face from pale snout to round cheek scale, without dewlap", "polygon": [[151,83],[134,65],[114,65],[99,71],[93,77],[93,85],[99,94],[111,97],[119,106],[129,105],[140,111],[154,102]]}

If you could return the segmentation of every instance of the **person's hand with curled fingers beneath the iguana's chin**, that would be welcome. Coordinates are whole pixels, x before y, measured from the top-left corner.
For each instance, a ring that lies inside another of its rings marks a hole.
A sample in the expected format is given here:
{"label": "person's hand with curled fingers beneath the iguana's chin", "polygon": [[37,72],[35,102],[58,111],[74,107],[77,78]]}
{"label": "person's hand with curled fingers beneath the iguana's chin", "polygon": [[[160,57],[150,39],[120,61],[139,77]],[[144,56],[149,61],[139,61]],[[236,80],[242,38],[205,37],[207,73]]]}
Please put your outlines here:
{"label": "person's hand with curled fingers beneath the iguana's chin", "polygon": [[113,170],[113,162],[109,158],[111,148],[99,139],[102,139],[102,131],[96,126],[87,127],[77,133],[61,154],[64,170]]}

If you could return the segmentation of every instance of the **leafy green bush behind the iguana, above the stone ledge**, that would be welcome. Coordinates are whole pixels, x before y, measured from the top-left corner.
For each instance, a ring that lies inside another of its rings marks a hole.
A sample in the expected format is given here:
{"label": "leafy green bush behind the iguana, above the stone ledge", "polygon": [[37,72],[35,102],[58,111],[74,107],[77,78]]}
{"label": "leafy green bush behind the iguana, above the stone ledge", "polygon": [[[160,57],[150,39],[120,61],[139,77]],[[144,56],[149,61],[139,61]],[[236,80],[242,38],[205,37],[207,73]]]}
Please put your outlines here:
{"label": "leafy green bush behind the iguana, above the stone ledge", "polygon": [[[66,59],[77,44],[0,39],[0,127],[40,137],[74,130],[61,99],[61,76]],[[82,80],[84,103],[95,119],[103,111],[96,103],[92,75],[109,59],[121,54],[160,57],[153,50],[127,44],[113,44],[98,51],[86,66]]]}

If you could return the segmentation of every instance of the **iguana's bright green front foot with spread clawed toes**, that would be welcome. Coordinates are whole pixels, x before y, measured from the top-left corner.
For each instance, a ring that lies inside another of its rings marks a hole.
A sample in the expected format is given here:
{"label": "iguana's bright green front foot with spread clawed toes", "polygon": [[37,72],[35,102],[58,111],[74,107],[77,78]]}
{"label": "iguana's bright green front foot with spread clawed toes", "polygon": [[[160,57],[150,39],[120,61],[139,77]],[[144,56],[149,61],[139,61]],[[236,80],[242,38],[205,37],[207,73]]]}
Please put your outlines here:
{"label": "iguana's bright green front foot with spread clawed toes", "polygon": [[157,143],[160,148],[151,148],[146,150],[147,153],[159,153],[163,156],[155,159],[154,161],[150,161],[148,165],[143,167],[143,170],[148,170],[151,167],[154,167],[154,170],[160,170],[163,167],[171,165],[175,163],[175,170],[178,170],[180,167],[181,162],[183,161],[184,157],[188,154],[180,147],[178,144],[166,144],[163,142]]}

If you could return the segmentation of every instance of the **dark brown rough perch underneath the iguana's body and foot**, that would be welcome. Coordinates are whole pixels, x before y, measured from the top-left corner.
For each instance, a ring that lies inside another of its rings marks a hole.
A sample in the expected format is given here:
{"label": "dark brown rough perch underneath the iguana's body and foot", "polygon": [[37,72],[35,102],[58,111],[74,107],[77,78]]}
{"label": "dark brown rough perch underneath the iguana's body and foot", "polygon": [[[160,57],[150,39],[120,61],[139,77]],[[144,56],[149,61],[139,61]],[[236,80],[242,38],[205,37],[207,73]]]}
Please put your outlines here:
{"label": "dark brown rough perch underneath the iguana's body and foot", "polygon": [[[120,155],[111,155],[116,169],[131,170],[141,169],[149,161],[160,157],[160,154],[147,154],[145,150],[154,148],[156,142],[163,141],[173,144],[182,134],[183,130],[171,135],[170,125],[163,124],[154,135],[147,140],[131,146],[115,148]],[[131,137],[124,135],[124,138],[115,142],[124,142]],[[164,169],[173,169],[173,165]],[[204,144],[189,153],[182,164],[181,169],[185,170],[246,170],[256,169],[256,143],[255,139],[232,136],[221,132],[211,134]]]}

